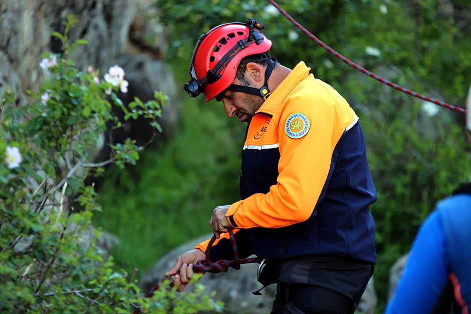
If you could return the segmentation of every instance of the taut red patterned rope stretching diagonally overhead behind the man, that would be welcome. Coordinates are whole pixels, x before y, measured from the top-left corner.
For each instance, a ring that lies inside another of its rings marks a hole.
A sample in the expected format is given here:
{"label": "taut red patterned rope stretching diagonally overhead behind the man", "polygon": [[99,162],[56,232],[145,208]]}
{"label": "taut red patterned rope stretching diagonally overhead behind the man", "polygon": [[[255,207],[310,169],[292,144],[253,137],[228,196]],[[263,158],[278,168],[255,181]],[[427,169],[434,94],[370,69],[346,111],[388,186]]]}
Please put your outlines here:
{"label": "taut red patterned rope stretching diagonally overhead behind the man", "polygon": [[325,50],[327,50],[329,53],[331,53],[332,55],[334,55],[335,57],[337,57],[338,59],[342,60],[343,62],[345,62],[346,64],[348,64],[349,66],[351,66],[352,68],[360,71],[361,73],[363,74],[366,74],[367,76],[369,77],[372,77],[373,79],[375,79],[376,81],[379,81],[389,87],[392,87],[402,93],[405,93],[407,95],[410,95],[410,96],[414,96],[414,97],[417,97],[417,98],[420,98],[422,100],[425,100],[425,101],[428,101],[428,102],[431,102],[431,103],[434,103],[435,105],[438,105],[440,107],[443,107],[443,108],[446,108],[446,109],[449,109],[449,110],[453,110],[453,111],[456,111],[456,112],[459,112],[459,113],[463,113],[465,114],[466,113],[466,110],[465,109],[462,109],[462,108],[459,108],[459,107],[456,107],[456,106],[453,106],[453,105],[450,105],[450,104],[447,104],[447,103],[444,103],[442,101],[439,101],[439,100],[436,100],[436,99],[433,99],[433,98],[430,98],[430,97],[427,97],[427,96],[423,96],[419,93],[415,93],[411,90],[408,90],[406,88],[403,88],[397,84],[394,84],[386,79],[383,79],[382,77],[380,77],[379,75],[376,75],[374,73],[371,73],[370,71],[366,70],[365,68],[357,65],[356,63],[348,60],[347,58],[345,58],[344,56],[342,56],[341,54],[339,54],[338,52],[336,52],[335,50],[333,50],[332,48],[330,48],[329,46],[327,46],[326,44],[324,44],[320,39],[318,39],[316,36],[314,36],[311,32],[309,32],[308,30],[306,30],[301,24],[299,24],[295,19],[293,19],[285,10],[283,10],[274,0],[268,0],[268,2],[270,4],[272,4],[275,8],[277,8],[277,10],[285,17],[287,18],[291,23],[294,24],[294,26],[296,26],[299,30],[301,30],[301,32],[303,32],[304,34],[306,34],[310,39],[312,39],[313,41],[315,41],[319,46],[321,46],[322,48],[324,48]]}

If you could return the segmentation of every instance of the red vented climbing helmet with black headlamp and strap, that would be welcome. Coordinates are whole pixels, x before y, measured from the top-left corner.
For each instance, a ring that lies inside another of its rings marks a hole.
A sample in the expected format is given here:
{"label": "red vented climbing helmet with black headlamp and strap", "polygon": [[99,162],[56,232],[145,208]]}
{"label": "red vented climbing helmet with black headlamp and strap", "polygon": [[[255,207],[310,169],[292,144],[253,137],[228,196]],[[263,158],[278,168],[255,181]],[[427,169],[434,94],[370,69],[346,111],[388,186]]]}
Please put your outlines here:
{"label": "red vented climbing helmet with black headlamp and strap", "polygon": [[203,93],[210,101],[232,84],[244,57],[268,52],[272,42],[260,32],[263,27],[248,19],[216,26],[201,35],[191,57],[190,81],[183,87],[188,95],[195,98]]}

